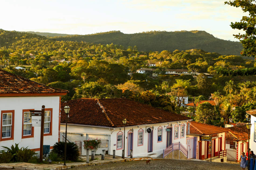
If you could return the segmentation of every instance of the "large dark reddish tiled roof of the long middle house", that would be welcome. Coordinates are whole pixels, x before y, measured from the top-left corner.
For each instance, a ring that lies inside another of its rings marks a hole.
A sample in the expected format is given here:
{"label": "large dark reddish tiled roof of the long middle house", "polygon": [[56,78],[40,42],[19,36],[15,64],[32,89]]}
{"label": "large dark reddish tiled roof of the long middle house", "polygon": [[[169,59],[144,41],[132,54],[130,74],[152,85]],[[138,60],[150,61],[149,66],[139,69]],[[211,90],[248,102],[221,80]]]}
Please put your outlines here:
{"label": "large dark reddish tiled roof of the long middle house", "polygon": [[[123,118],[127,119],[126,126],[190,119],[128,99],[82,98],[62,102],[61,115],[65,115],[63,109],[65,105],[70,106],[69,123],[123,127]],[[65,116],[61,116],[61,122],[64,123],[65,119]]]}

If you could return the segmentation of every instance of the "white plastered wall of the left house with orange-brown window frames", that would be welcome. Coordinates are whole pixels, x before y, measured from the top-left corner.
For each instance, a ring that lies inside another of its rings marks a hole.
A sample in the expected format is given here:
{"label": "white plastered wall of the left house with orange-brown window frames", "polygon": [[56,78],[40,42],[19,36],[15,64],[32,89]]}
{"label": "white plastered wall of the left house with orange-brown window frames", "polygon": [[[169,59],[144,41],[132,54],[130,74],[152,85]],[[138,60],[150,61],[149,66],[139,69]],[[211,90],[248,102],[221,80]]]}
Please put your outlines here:
{"label": "white plastered wall of the left house with orange-brown window frames", "polygon": [[[40,146],[40,127],[34,128],[34,137],[23,138],[22,136],[22,110],[35,109],[41,110],[41,106],[53,109],[52,136],[44,136],[44,145],[53,146],[58,142],[59,136],[59,96],[53,97],[0,97],[0,111],[15,110],[14,119],[14,139],[0,141],[1,146],[10,147],[19,143],[19,147],[38,149]],[[0,121],[1,123],[2,121]]]}

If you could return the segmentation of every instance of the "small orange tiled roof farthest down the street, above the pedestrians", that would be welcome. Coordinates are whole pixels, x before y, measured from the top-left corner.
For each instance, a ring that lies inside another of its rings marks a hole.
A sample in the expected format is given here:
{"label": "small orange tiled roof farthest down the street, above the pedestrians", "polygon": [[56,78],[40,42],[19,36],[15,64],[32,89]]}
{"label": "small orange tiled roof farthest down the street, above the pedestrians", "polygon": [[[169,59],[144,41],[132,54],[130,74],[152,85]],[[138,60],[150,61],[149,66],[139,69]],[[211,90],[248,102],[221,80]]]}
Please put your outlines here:
{"label": "small orange tiled roof farthest down the street, above the pedestrians", "polygon": [[[244,125],[242,125],[244,124]],[[245,123],[239,123],[236,126],[228,127],[231,131],[227,132],[226,137],[231,140],[248,140],[248,130]]]}

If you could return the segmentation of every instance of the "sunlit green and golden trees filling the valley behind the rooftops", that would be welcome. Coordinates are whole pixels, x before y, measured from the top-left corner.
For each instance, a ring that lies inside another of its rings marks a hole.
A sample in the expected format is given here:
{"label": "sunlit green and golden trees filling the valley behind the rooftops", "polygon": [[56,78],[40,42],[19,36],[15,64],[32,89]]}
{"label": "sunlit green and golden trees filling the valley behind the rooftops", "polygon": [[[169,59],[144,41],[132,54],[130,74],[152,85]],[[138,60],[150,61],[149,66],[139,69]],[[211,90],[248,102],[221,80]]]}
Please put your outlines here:
{"label": "sunlit green and golden trees filling the valley behind the rooftops", "polygon": [[[156,66],[149,67],[148,63]],[[16,69],[16,66],[25,69]],[[241,56],[199,49],[143,52],[138,51],[137,46],[56,41],[0,30],[0,67],[45,85],[69,90],[62,101],[81,97],[129,98],[177,114],[188,113],[197,121],[219,126],[229,121],[244,121],[245,111],[254,108],[250,103],[256,102],[255,66],[254,60]],[[136,72],[139,68],[156,70],[140,74]],[[193,74],[165,74],[167,69],[188,69]],[[204,73],[213,78],[207,78]],[[156,74],[158,76],[154,76]],[[216,103],[214,108],[197,104],[208,100],[211,93],[214,94],[211,100]],[[185,96],[198,107],[184,108]]]}

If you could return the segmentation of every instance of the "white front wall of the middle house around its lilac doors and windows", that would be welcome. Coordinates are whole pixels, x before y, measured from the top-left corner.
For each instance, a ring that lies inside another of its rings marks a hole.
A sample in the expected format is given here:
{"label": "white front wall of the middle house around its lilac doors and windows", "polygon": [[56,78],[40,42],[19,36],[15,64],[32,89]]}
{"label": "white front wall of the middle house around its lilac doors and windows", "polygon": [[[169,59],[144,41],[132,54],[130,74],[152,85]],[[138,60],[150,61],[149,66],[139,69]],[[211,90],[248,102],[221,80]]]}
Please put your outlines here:
{"label": "white front wall of the middle house around its lilac doors and windows", "polygon": [[[180,138],[180,126],[178,130],[178,138],[174,139],[174,126],[177,124],[176,122],[172,122],[172,137],[173,143],[180,142],[185,148],[187,148],[186,144],[186,121],[180,121],[178,124],[184,123],[184,137]],[[148,153],[148,133],[146,133],[146,129],[148,127],[154,126],[153,130],[153,152]],[[161,126],[162,129],[162,142],[158,142],[158,127]],[[164,127],[165,126],[165,127]],[[152,125],[142,125],[142,126],[133,126],[133,127],[126,127],[125,128],[125,157],[127,157],[127,135],[130,130],[133,129],[133,156],[148,156],[149,154],[156,153],[152,155],[152,157],[158,157],[160,154],[163,153],[163,150],[166,148],[167,145],[167,132],[166,127],[168,126],[167,123],[158,123]],[[143,145],[138,146],[138,130],[144,130],[143,133]],[[121,130],[120,130],[121,129]],[[124,133],[124,128],[116,128],[111,135],[111,145],[110,145],[110,154],[113,154],[113,150],[116,150],[116,155],[121,156],[122,150],[117,150],[117,134],[121,131]],[[114,146],[115,145],[115,146]]]}

